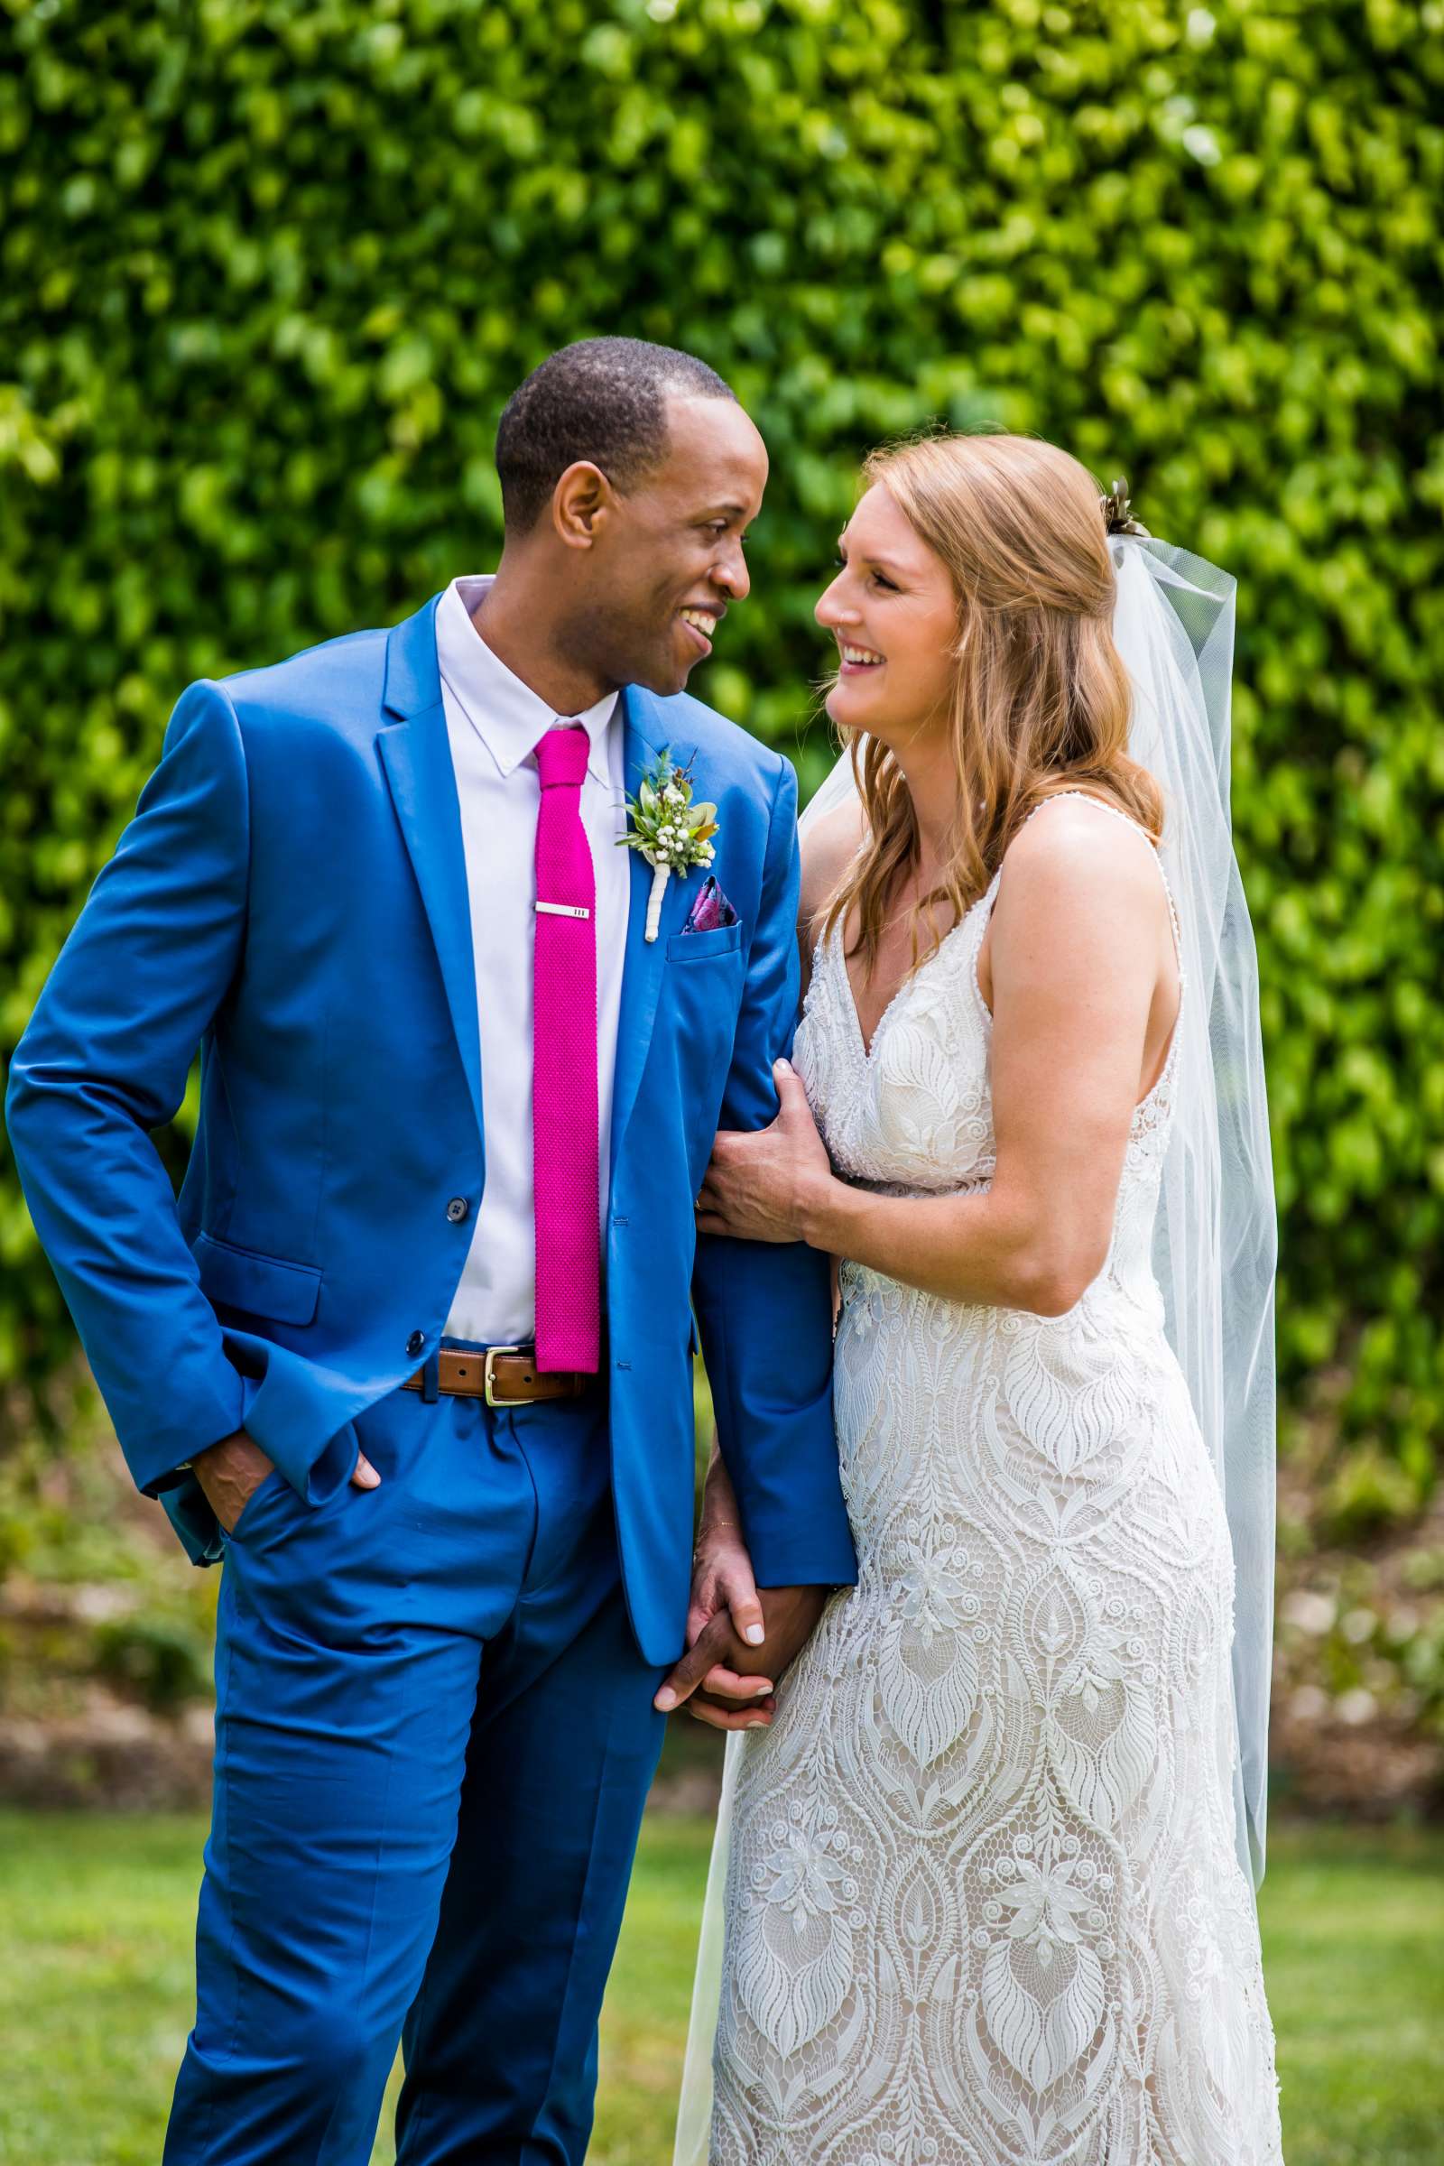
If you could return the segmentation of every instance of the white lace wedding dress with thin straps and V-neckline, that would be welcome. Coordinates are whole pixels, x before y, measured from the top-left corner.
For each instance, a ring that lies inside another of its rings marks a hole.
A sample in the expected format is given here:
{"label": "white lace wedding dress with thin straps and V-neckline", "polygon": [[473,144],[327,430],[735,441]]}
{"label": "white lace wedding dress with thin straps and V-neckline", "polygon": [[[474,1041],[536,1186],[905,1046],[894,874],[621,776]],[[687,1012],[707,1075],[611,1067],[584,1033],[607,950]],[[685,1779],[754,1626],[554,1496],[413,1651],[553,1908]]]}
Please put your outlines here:
{"label": "white lace wedding dress with thin straps and V-neckline", "polygon": [[[1108,847],[1124,817],[1098,810]],[[870,1051],[840,936],[818,947],[795,1061],[842,1174],[987,1185],[994,892]],[[1067,1315],[842,1265],[862,1577],[743,1741],[719,2166],[1279,2160],[1234,1852],[1230,1540],[1150,1269],[1173,1051]]]}

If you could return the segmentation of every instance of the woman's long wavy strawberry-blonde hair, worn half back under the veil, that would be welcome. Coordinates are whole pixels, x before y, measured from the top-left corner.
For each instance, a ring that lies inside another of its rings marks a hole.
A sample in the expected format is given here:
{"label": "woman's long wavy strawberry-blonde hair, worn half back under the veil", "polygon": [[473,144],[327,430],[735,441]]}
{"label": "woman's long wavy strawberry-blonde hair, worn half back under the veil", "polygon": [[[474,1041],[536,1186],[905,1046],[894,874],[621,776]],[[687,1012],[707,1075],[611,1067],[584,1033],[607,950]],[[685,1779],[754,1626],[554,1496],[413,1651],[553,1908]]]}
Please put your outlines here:
{"label": "woman's long wavy strawberry-blonde hair, worn half back under the veil", "polygon": [[[1024,819],[1061,788],[1106,797],[1158,843],[1163,797],[1128,758],[1130,684],[1113,645],[1113,561],[1093,477],[1054,444],[1024,435],[937,435],[875,451],[881,485],[942,557],[957,596],[953,762],[957,814],[942,886],[953,923],[979,901]],[[877,739],[853,775],[868,836],[827,903],[823,931],[857,908],[872,975],[888,901],[918,853],[903,769]],[[931,942],[935,944],[935,940]],[[929,947],[931,947],[929,944]]]}

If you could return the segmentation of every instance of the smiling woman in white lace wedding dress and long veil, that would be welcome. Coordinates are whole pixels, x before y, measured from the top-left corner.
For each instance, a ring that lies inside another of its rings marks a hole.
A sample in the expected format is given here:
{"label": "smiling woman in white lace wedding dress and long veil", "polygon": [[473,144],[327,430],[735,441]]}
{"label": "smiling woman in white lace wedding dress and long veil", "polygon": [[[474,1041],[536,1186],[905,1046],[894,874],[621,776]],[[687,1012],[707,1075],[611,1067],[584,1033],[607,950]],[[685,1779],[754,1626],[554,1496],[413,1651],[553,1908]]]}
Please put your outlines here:
{"label": "smiling woman in white lace wedding dress and long veil", "polygon": [[745,1735],[678,2157],[1264,2166],[1273,1217],[1232,583],[1048,444],[864,479],[816,611],[849,756],[805,821],[797,1072],[699,1198],[701,1230],[840,1258],[859,1581],[775,1696],[745,1676],[712,1464],[669,1696]]}

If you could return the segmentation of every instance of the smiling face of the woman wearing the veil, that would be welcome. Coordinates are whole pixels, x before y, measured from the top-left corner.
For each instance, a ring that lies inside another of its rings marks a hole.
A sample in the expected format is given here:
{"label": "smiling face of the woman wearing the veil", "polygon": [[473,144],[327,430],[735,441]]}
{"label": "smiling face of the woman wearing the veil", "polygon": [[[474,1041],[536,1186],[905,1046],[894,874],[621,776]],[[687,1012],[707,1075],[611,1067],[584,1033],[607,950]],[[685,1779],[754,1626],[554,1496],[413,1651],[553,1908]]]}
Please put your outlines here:
{"label": "smiling face of the woman wearing the veil", "polygon": [[875,483],[838,537],[816,619],[838,641],[827,713],[894,752],[948,728],[957,598],[942,557]]}

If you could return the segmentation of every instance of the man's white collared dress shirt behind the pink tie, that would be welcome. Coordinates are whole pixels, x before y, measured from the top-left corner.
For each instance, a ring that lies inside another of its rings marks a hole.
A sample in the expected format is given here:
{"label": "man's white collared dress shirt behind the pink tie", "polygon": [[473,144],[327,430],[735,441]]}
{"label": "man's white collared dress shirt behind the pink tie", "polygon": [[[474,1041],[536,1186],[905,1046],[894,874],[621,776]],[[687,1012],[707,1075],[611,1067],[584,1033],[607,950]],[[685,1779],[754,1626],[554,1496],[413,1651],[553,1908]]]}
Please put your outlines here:
{"label": "man's white collared dress shirt behind the pink tie", "polygon": [[[489,576],[455,578],[437,604],[435,643],[442,706],[461,799],[465,884],[472,905],[481,1105],[487,1178],[446,1336],[522,1345],[537,1328],[537,1230],[533,1217],[533,953],[537,901],[537,812],[541,784],[533,747],[546,728],[580,721],[589,754],[582,825],[598,882],[598,1122],[600,1196],[611,1185],[613,1068],[621,962],[630,903],[626,767],[619,695],[585,715],[556,717],[513,676],[472,624]],[[602,1241],[606,1254],[606,1239]]]}

